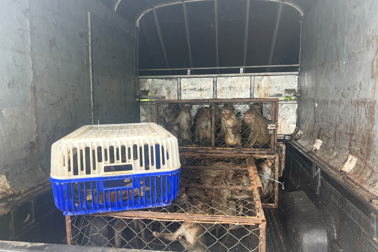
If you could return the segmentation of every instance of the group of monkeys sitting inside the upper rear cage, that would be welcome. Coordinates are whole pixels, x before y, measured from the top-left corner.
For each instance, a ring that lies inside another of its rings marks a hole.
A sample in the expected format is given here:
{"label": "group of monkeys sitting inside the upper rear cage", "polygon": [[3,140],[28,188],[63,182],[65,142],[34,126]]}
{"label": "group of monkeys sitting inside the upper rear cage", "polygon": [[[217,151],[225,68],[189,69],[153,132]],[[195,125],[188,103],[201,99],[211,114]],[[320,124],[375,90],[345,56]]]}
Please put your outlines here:
{"label": "group of monkeys sitting inside the upper rear cage", "polygon": [[[256,144],[261,147],[270,143],[269,120],[263,117],[261,103],[251,104],[243,114],[242,122],[237,118],[234,105],[225,103],[222,107],[215,106],[215,123],[217,128],[220,128],[217,135],[224,141],[224,147],[250,148]],[[211,107],[198,108],[194,117],[191,110],[191,104],[168,104],[163,110],[163,127],[182,142],[210,142]]]}

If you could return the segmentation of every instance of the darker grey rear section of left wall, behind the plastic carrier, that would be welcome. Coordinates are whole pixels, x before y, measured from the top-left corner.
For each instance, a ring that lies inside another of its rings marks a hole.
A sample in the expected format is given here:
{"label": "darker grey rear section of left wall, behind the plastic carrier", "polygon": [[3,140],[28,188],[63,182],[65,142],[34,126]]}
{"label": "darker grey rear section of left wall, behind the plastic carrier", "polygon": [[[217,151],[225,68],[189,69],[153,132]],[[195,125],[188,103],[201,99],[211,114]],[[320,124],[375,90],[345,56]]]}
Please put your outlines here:
{"label": "darker grey rear section of left wall, behind the plastic carrier", "polygon": [[94,122],[130,123],[135,117],[135,40],[91,15]]}

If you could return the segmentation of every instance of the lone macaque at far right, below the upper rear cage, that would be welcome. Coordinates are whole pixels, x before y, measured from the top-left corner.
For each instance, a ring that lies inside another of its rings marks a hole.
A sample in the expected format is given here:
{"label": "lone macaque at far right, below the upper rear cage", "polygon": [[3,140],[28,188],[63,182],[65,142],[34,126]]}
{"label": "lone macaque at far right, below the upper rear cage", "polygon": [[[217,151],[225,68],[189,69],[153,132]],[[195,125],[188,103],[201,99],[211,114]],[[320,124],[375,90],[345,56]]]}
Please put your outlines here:
{"label": "lone macaque at far right, below the upper rear cage", "polygon": [[269,178],[274,179],[275,163],[276,161],[274,160],[274,158],[268,158],[266,159],[266,161],[262,159],[259,162],[259,166],[257,167],[259,174],[268,177],[265,178],[263,176],[260,176],[262,184],[260,195],[262,198],[268,198],[269,196],[273,195],[273,181]]}

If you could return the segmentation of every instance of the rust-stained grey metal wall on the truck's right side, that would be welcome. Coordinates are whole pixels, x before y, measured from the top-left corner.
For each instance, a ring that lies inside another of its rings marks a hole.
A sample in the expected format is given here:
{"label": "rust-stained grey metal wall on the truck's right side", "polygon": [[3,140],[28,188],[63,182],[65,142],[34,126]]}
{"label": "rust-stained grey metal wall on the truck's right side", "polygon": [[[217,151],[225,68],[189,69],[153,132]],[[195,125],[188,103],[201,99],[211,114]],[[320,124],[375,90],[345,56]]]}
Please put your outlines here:
{"label": "rust-stained grey metal wall on the truck's right side", "polygon": [[334,167],[358,156],[345,175],[376,195],[377,11],[376,1],[319,1],[303,20],[299,77],[300,143],[321,139],[317,155]]}

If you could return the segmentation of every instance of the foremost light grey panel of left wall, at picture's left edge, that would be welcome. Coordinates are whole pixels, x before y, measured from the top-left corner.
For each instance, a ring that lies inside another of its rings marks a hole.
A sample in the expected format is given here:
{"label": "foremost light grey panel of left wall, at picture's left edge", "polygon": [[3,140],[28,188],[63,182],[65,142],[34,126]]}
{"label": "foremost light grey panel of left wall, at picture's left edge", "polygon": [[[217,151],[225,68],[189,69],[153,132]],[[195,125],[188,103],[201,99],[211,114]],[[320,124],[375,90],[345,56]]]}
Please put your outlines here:
{"label": "foremost light grey panel of left wall, at picture's left edge", "polygon": [[[38,162],[36,83],[33,82],[29,3],[0,1],[0,174],[15,191],[45,177]],[[0,185],[0,198],[12,193]]]}

